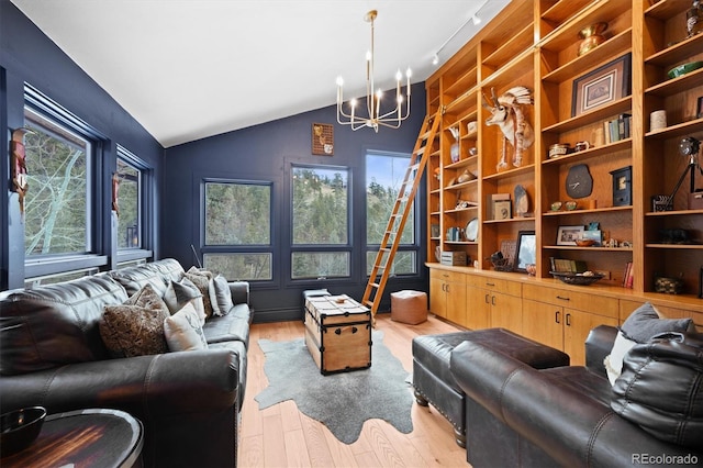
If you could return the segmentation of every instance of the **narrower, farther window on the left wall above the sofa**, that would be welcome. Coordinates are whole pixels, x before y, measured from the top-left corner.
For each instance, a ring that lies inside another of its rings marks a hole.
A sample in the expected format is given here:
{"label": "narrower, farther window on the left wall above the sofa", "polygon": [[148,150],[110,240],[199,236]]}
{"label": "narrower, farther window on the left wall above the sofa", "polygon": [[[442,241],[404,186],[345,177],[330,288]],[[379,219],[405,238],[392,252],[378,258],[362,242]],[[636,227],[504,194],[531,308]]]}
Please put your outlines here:
{"label": "narrower, farther window on the left wall above the sofa", "polygon": [[136,167],[134,159],[124,148],[118,148],[119,249],[142,247],[142,170]]}

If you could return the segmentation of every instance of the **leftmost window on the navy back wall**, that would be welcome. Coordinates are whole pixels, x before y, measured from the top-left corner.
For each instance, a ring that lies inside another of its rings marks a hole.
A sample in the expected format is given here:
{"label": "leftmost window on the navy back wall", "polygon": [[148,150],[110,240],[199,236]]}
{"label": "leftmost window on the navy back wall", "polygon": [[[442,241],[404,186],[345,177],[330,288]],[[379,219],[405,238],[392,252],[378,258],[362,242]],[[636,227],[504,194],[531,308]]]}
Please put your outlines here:
{"label": "leftmost window on the navy back wall", "polygon": [[272,279],[270,182],[204,183],[203,266],[230,280]]}

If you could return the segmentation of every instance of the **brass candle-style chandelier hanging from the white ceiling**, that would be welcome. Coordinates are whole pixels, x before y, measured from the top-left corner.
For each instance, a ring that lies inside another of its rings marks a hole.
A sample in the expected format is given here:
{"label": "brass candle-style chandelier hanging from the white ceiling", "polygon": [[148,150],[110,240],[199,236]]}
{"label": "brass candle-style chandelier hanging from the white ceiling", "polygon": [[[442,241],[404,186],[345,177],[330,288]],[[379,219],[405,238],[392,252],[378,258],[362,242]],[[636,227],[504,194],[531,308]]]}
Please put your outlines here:
{"label": "brass candle-style chandelier hanging from the white ceiling", "polygon": [[405,94],[401,92],[403,75],[399,69],[395,74],[395,108],[381,113],[383,91],[376,89],[373,83],[373,20],[376,20],[377,15],[378,11],[371,10],[364,16],[367,23],[371,23],[371,48],[366,53],[366,115],[359,115],[356,112],[356,99],[352,99],[347,105],[350,111],[348,113],[344,111],[342,105],[344,102],[344,92],[342,90],[344,80],[342,77],[337,77],[337,122],[343,125],[350,125],[355,132],[365,126],[370,126],[378,132],[379,125],[399,129],[401,122],[410,115],[410,68],[405,71],[408,82]]}

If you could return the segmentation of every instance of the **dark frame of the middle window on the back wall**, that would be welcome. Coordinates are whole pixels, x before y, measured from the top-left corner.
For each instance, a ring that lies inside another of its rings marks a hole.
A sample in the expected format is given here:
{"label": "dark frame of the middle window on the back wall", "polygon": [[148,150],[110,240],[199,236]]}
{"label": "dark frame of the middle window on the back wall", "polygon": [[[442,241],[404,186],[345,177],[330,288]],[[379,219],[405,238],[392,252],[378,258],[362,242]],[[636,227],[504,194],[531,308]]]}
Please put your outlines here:
{"label": "dark frame of the middle window on the back wall", "polygon": [[[354,211],[354,203],[353,203],[353,199],[354,199],[354,183],[353,183],[353,177],[354,177],[354,170],[352,167],[349,166],[341,166],[341,165],[325,165],[325,164],[310,164],[310,163],[291,163],[290,164],[290,175],[288,177],[288,183],[290,185],[290,204],[289,204],[289,213],[290,213],[290,219],[289,219],[289,230],[290,230],[290,237],[289,237],[289,256],[288,256],[288,281],[290,281],[291,283],[305,283],[305,282],[316,282],[320,280],[326,280],[326,281],[348,281],[354,279],[354,274],[355,274],[355,261],[354,261],[354,216],[353,216],[353,211]],[[339,170],[339,171],[344,171],[347,176],[347,209],[346,209],[346,218],[347,218],[347,242],[346,244],[295,244],[293,241],[293,191],[294,191],[294,185],[293,185],[293,177],[295,174],[295,169],[321,169],[321,170],[325,170],[325,171],[334,171],[334,170]],[[295,254],[325,254],[325,253],[330,253],[330,254],[336,254],[336,253],[344,253],[347,255],[348,258],[348,264],[347,264],[347,271],[348,275],[346,276],[333,276],[333,277],[326,277],[326,276],[310,276],[310,277],[294,277],[293,276],[293,256]]]}

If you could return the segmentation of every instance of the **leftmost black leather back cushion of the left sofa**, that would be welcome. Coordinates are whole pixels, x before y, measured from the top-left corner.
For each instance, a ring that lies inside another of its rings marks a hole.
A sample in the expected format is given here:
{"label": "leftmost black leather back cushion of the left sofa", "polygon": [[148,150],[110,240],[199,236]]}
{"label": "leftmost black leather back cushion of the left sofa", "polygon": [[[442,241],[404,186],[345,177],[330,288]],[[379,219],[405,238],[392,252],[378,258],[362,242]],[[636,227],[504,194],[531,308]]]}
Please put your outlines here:
{"label": "leftmost black leather back cushion of the left sofa", "polygon": [[102,274],[9,292],[0,303],[0,374],[108,358],[98,326],[102,309],[126,299]]}

